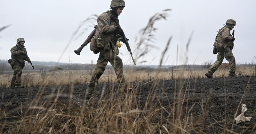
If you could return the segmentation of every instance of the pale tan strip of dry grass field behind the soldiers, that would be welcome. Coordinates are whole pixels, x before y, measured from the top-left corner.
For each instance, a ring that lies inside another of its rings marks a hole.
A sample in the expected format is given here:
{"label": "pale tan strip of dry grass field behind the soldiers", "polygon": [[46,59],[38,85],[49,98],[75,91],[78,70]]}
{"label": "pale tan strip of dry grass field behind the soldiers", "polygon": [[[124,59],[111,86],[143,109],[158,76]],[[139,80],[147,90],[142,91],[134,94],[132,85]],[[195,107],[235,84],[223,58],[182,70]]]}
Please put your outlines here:
{"label": "pale tan strip of dry grass field behind the soldiers", "polygon": [[[256,75],[254,67],[237,67],[236,74],[239,76]],[[192,79],[192,78],[205,78],[205,73],[208,70],[184,70],[184,69],[164,69],[157,70],[148,68],[143,71],[124,70],[124,76],[129,82],[141,82],[154,79],[162,80],[177,80],[177,79]],[[218,69],[213,77],[228,77],[228,68]],[[64,85],[80,85],[87,84],[90,81],[92,74],[87,70],[76,71],[23,71],[22,85],[25,87],[40,87],[40,86],[64,86]],[[7,74],[0,75],[0,87],[9,87],[12,79],[12,72],[8,71]],[[99,79],[99,83],[116,82],[116,74],[114,70],[105,70],[104,74]]]}

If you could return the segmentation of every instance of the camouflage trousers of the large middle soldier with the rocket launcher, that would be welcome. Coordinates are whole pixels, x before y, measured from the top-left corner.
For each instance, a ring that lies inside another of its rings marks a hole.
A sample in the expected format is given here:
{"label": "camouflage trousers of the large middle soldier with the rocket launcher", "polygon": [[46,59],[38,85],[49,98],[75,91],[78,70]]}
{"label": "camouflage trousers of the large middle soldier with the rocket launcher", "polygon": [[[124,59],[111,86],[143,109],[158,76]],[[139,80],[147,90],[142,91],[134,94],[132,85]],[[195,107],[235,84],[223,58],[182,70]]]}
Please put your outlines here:
{"label": "camouflage trousers of the large middle soldier with the rocket launcher", "polygon": [[98,84],[98,80],[100,76],[104,73],[108,62],[113,66],[116,72],[117,82],[120,85],[120,87],[126,88],[127,84],[124,78],[122,59],[118,57],[113,50],[100,52],[100,56],[98,58],[97,64],[92,73],[92,78],[91,78],[89,87],[92,89],[96,87],[96,85]]}

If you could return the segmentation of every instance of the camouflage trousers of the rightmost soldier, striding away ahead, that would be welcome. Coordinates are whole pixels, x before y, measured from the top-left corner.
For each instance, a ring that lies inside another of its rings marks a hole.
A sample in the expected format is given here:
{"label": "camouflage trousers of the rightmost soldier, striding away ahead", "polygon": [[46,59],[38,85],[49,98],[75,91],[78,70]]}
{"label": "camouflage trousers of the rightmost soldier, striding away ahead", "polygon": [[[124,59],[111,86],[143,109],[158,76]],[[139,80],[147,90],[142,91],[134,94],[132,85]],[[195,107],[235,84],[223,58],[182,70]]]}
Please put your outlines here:
{"label": "camouflage trousers of the rightmost soldier, striding away ahead", "polygon": [[213,63],[212,67],[209,69],[209,73],[213,74],[218,67],[223,62],[223,59],[226,58],[229,66],[229,74],[235,74],[236,72],[236,59],[233,56],[233,53],[229,47],[224,48],[223,52],[218,52],[217,60]]}

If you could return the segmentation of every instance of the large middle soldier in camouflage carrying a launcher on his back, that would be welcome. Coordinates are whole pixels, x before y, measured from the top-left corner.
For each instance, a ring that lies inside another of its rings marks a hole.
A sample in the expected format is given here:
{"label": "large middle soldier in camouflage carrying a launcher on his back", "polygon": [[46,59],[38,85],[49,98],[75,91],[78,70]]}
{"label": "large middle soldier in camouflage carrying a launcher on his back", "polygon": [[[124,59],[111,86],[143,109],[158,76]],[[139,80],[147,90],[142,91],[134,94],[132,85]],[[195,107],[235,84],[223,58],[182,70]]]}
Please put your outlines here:
{"label": "large middle soldier in camouflage carrying a launcher on his back", "polygon": [[124,0],[112,0],[110,7],[110,11],[102,13],[97,19],[98,27],[95,32],[95,40],[97,48],[99,48],[100,51],[100,56],[92,73],[89,84],[90,92],[95,89],[108,62],[113,66],[116,72],[117,82],[120,87],[123,89],[127,87],[123,73],[123,62],[122,59],[117,56],[119,50],[116,45],[116,42],[120,40],[119,33],[122,32],[118,16],[123,12],[125,7]]}

